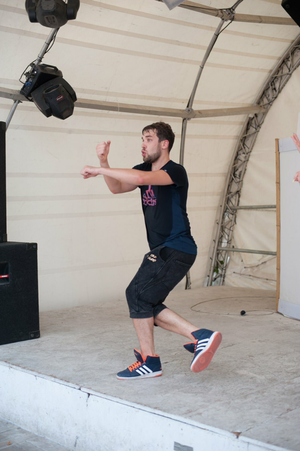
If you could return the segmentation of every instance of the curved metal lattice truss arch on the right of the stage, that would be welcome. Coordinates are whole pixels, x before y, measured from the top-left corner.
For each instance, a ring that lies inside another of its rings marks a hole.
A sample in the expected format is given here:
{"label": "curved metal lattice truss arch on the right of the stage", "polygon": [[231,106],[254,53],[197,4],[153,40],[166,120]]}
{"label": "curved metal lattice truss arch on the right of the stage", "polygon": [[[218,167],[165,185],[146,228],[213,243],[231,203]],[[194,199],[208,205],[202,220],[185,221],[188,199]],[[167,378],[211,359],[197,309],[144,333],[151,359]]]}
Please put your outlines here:
{"label": "curved metal lattice truss arch on the right of the stage", "polygon": [[210,257],[210,271],[205,286],[223,285],[228,265],[228,251],[222,248],[231,247],[231,239],[236,220],[240,193],[249,157],[261,129],[263,121],[283,87],[291,78],[291,74],[300,65],[300,35],[272,70],[254,105],[263,106],[265,112],[251,115],[240,133],[240,137],[231,157],[225,188],[221,198],[220,214],[217,220],[217,233],[213,239],[213,251]]}

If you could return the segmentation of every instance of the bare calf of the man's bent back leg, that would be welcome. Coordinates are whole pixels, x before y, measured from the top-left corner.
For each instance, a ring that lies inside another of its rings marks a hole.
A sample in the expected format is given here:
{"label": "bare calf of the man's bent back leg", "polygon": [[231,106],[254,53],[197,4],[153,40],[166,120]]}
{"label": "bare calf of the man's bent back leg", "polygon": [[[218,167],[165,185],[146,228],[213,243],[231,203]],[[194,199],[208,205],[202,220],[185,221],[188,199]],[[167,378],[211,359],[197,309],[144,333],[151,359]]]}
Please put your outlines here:
{"label": "bare calf of the man's bent back leg", "polygon": [[199,329],[189,321],[186,321],[177,313],[173,312],[169,308],[165,308],[154,318],[154,322],[157,326],[166,329],[167,331],[176,332],[177,334],[187,337],[189,340],[194,341],[195,337],[191,335],[192,332]]}

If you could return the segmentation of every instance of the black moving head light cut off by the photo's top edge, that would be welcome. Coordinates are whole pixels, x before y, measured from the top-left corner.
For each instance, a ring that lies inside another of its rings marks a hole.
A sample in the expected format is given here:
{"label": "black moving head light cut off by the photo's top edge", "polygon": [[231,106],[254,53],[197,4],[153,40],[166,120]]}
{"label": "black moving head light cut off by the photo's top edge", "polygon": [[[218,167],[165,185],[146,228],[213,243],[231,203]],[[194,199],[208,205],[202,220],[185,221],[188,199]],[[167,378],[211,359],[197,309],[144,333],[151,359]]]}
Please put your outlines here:
{"label": "black moving head light cut off by the photo's top edge", "polygon": [[76,19],[80,0],[25,0],[25,8],[30,22],[38,22],[44,27],[59,28],[68,20]]}

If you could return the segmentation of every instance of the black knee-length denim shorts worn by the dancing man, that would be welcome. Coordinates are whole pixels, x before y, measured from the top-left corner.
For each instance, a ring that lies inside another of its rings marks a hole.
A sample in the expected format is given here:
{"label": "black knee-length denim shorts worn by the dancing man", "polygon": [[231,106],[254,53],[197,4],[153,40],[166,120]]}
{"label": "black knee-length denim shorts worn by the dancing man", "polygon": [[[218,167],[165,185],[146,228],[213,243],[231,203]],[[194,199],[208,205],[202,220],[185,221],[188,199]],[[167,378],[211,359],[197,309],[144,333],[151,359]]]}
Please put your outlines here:
{"label": "black knee-length denim shorts worn by the dancing man", "polygon": [[130,318],[155,317],[166,308],[164,300],[195,259],[196,255],[166,246],[149,251],[126,289]]}

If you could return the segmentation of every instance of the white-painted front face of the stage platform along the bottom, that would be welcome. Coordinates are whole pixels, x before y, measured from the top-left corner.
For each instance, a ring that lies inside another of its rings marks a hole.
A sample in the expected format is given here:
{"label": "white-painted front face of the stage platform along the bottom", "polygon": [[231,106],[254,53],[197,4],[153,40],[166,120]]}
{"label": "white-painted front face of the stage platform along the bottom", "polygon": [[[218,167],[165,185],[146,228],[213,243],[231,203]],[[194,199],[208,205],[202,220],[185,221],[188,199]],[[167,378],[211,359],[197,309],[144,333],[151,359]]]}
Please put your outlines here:
{"label": "white-painted front face of the stage platform along the bottom", "polygon": [[74,451],[286,451],[4,361],[0,381],[0,418]]}

